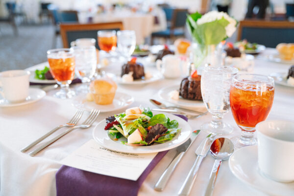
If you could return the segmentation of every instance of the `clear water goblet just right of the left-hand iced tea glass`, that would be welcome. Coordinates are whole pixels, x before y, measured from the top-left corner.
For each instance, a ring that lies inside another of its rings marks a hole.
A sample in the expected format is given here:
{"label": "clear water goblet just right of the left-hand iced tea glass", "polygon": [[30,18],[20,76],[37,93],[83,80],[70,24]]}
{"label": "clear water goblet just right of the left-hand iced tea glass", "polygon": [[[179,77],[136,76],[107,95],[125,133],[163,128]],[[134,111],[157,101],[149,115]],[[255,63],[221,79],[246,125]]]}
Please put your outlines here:
{"label": "clear water goblet just right of the left-hand iced tea glass", "polygon": [[82,80],[82,85],[77,88],[78,92],[88,93],[91,78],[97,67],[97,53],[95,46],[72,47],[75,58],[75,72]]}

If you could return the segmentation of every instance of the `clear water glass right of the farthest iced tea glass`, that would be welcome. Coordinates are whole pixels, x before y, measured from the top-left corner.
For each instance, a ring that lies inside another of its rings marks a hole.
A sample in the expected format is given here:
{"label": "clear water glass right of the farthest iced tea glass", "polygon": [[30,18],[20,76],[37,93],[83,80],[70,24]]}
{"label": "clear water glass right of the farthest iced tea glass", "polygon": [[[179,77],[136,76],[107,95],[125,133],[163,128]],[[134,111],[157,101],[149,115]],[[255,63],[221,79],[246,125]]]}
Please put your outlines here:
{"label": "clear water glass right of the farthest iced tea glass", "polygon": [[133,30],[122,30],[117,32],[118,50],[129,59],[136,47],[136,34]]}

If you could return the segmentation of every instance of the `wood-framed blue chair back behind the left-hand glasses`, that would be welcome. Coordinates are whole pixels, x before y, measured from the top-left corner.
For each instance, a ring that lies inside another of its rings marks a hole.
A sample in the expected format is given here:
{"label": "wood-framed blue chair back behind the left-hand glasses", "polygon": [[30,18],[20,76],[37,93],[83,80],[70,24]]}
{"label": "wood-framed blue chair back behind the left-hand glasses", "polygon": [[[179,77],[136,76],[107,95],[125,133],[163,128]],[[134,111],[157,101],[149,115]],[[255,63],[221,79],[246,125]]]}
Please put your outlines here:
{"label": "wood-framed blue chair back behind the left-hand glasses", "polygon": [[[97,24],[60,24],[60,34],[64,48],[69,48],[71,42],[79,38],[94,38],[97,40],[98,30],[123,30],[122,22]],[[96,48],[98,42],[96,42]]]}

